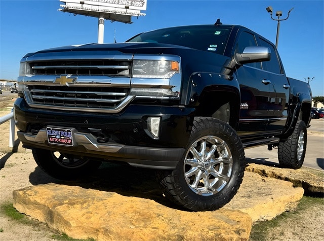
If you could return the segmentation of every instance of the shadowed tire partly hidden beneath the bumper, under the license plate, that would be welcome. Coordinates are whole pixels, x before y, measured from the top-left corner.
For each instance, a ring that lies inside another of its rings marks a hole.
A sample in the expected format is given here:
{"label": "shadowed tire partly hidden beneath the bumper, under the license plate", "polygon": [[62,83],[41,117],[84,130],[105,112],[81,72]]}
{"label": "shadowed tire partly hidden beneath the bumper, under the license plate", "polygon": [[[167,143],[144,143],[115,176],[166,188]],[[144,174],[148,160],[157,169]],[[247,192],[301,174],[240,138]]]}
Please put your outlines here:
{"label": "shadowed tire partly hidden beneath the bumper, under the license plate", "polygon": [[75,158],[60,152],[54,153],[50,150],[38,148],[34,148],[32,154],[37,165],[45,173],[60,180],[83,178],[101,165],[101,161],[88,158]]}

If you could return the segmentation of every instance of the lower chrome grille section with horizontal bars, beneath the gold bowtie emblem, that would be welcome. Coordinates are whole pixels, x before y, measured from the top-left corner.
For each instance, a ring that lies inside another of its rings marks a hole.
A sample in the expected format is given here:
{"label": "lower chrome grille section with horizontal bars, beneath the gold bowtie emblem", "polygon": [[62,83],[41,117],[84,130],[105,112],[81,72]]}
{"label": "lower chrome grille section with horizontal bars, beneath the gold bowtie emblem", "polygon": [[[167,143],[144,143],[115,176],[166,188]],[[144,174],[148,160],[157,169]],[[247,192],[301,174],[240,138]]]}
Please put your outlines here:
{"label": "lower chrome grille section with horizontal bars, beneath the gold bowtie emblem", "polygon": [[134,97],[128,95],[128,88],[46,85],[29,85],[24,94],[31,107],[112,113],[120,111]]}

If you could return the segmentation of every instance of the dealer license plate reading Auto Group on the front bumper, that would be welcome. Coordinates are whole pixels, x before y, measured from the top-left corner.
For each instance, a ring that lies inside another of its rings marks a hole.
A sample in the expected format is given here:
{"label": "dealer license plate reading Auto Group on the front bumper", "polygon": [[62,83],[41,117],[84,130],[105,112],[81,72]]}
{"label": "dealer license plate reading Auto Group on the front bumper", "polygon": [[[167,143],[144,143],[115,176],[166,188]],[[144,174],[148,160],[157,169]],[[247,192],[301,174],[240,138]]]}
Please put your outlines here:
{"label": "dealer license plate reading Auto Group on the front bumper", "polygon": [[73,146],[73,135],[71,129],[47,127],[46,133],[49,144]]}

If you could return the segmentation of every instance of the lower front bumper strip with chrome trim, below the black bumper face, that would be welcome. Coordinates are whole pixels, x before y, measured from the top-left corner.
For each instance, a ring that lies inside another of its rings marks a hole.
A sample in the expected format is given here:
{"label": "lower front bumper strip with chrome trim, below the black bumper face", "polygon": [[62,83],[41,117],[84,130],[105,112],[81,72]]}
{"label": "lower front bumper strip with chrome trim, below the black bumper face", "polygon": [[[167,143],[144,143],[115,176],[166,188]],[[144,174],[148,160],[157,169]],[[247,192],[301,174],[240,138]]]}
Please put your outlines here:
{"label": "lower front bumper strip with chrome trim, below the black bumper face", "polygon": [[30,132],[17,132],[25,147],[49,149],[72,155],[90,156],[104,160],[125,161],[132,166],[155,169],[174,169],[182,157],[184,148],[143,148],[118,144],[98,144],[90,133],[74,133],[75,147],[49,145],[46,130],[36,135]]}

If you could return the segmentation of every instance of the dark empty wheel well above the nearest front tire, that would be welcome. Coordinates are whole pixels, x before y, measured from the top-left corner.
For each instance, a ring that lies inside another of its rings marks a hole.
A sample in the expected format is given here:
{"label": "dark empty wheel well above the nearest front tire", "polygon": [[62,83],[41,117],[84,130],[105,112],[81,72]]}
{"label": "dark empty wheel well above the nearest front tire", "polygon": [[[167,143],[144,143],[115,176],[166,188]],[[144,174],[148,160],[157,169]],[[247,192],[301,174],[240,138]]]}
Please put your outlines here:
{"label": "dark empty wheel well above the nearest front tire", "polygon": [[213,117],[235,128],[239,115],[237,93],[209,91],[200,95],[196,116]]}

